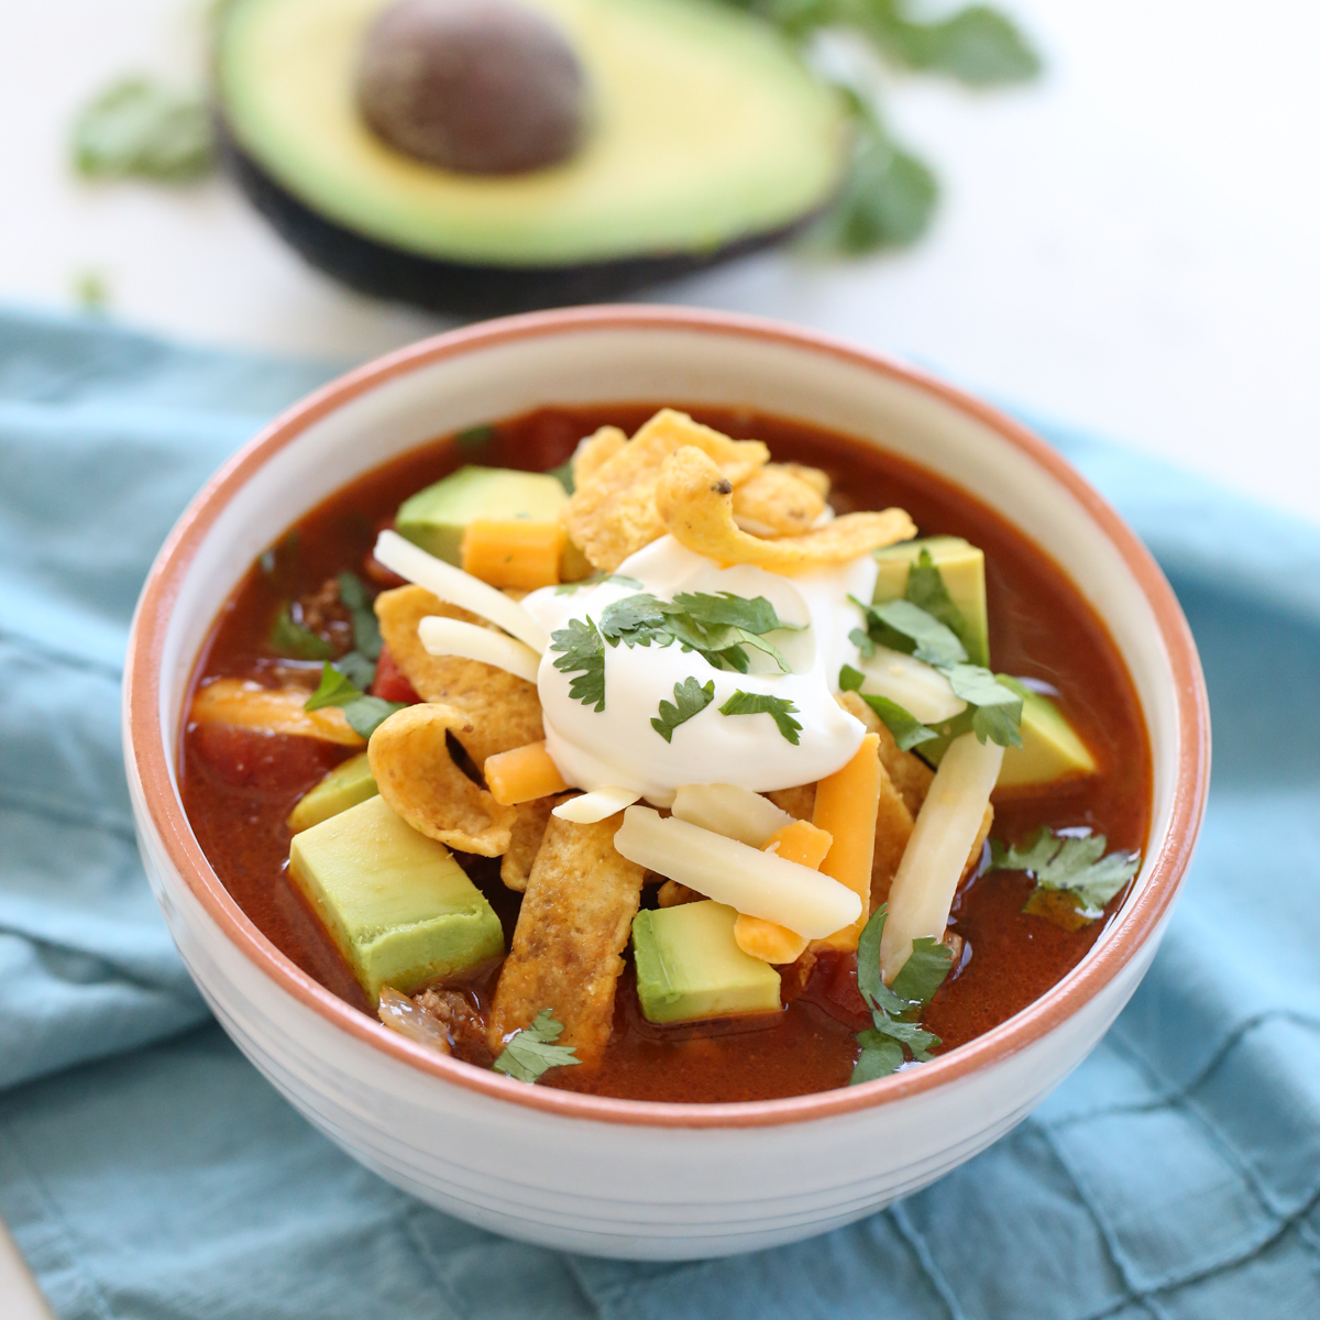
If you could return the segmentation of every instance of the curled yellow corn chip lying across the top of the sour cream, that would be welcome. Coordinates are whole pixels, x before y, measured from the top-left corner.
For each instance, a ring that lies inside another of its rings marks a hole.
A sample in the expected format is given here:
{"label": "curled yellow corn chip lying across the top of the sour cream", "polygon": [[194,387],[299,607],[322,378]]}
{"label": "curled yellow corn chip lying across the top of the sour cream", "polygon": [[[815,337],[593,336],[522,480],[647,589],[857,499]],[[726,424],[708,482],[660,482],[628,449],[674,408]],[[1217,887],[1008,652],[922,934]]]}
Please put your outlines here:
{"label": "curled yellow corn chip lying across the top of the sour cream", "polygon": [[733,484],[694,446],[665,459],[655,484],[656,512],[676,540],[718,564],[754,564],[771,573],[807,573],[855,560],[882,545],[916,536],[900,508],[880,513],[845,513],[803,536],[767,541],[734,521]]}

